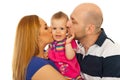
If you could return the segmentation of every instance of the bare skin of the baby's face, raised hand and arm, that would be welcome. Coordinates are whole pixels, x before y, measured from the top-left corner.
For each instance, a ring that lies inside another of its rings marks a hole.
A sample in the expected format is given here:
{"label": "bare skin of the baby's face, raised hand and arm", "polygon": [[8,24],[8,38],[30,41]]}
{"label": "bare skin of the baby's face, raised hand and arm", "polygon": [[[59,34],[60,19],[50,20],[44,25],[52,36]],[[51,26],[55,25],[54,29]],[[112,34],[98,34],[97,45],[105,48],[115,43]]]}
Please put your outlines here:
{"label": "bare skin of the baby's face, raised hand and arm", "polygon": [[[75,51],[73,50],[70,42],[73,40],[74,34],[71,34],[67,30],[66,23],[67,22],[65,18],[52,19],[52,25],[51,25],[52,35],[54,40],[56,41],[64,40],[67,37],[66,43],[65,43],[65,53],[66,53],[67,59],[72,60],[75,56]],[[66,35],[68,34],[67,31],[71,36]]]}

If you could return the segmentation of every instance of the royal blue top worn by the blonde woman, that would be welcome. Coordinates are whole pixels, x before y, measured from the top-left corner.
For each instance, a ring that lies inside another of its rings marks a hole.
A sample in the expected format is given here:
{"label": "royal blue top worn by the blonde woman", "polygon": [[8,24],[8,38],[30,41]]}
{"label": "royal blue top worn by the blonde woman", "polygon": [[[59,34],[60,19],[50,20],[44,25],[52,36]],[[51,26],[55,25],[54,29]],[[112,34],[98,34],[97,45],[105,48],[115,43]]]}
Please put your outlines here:
{"label": "royal blue top worn by the blonde woman", "polygon": [[34,73],[39,70],[40,68],[42,68],[43,66],[45,66],[46,64],[49,64],[51,66],[53,66],[54,68],[55,65],[52,61],[47,60],[47,59],[43,59],[40,57],[32,57],[31,61],[28,64],[27,67],[27,71],[26,71],[26,80],[31,80],[32,76],[34,75]]}

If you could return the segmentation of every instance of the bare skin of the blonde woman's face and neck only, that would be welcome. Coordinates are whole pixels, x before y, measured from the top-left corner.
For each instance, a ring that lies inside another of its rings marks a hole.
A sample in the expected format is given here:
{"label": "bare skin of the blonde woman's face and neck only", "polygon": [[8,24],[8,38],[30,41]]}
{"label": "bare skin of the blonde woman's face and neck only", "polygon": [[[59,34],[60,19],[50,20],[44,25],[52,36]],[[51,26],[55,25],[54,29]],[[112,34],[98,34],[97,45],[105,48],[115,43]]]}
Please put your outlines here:
{"label": "bare skin of the blonde woman's face and neck only", "polygon": [[39,20],[41,23],[41,27],[40,27],[40,33],[39,33],[40,35],[38,36],[38,45],[41,52],[38,54],[38,56],[47,59],[47,54],[44,53],[44,47],[48,43],[53,41],[51,28],[47,26],[46,22],[43,19],[40,18]]}

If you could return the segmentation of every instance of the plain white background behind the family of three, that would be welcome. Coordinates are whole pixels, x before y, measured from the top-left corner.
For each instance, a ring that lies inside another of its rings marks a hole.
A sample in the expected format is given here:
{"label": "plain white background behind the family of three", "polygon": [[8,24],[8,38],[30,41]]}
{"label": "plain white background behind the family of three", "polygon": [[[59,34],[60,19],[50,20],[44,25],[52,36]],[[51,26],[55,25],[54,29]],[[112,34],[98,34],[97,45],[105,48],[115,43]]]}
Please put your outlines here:
{"label": "plain white background behind the family of three", "polygon": [[0,0],[0,79],[12,80],[12,56],[16,27],[19,20],[30,14],[42,17],[48,25],[57,11],[70,15],[82,2],[100,6],[104,15],[102,27],[116,43],[120,43],[119,0]]}

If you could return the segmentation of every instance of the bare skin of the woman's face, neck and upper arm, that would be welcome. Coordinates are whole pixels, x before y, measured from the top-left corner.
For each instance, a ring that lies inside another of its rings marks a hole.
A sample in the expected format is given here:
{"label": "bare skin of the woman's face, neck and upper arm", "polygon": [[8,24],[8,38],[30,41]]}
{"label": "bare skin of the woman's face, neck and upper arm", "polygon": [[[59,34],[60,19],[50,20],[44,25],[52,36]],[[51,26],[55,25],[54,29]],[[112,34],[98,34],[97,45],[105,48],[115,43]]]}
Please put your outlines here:
{"label": "bare skin of the woman's face, neck and upper arm", "polygon": [[[46,56],[41,56],[41,53],[44,53],[44,47],[53,41],[51,28],[47,26],[45,21],[40,20],[41,28],[40,35],[38,39],[39,48],[41,52],[37,55],[38,57],[46,58]],[[49,39],[48,39],[49,38]],[[42,46],[41,46],[42,45]],[[52,73],[52,74],[51,74]],[[62,76],[56,69],[54,69],[51,65],[45,65],[40,68],[32,77],[32,80],[66,80],[64,76]]]}

